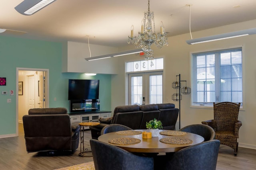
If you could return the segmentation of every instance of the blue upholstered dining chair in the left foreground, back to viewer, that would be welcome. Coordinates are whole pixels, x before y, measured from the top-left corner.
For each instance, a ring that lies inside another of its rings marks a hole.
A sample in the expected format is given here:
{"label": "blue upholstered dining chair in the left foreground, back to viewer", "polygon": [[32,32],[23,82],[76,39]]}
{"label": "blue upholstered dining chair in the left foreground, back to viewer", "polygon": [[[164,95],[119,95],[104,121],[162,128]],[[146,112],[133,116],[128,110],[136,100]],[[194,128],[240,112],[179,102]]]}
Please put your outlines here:
{"label": "blue upholstered dining chair in the left foreground, back to viewer", "polygon": [[153,170],[152,157],[138,156],[124,149],[90,139],[95,170]]}

